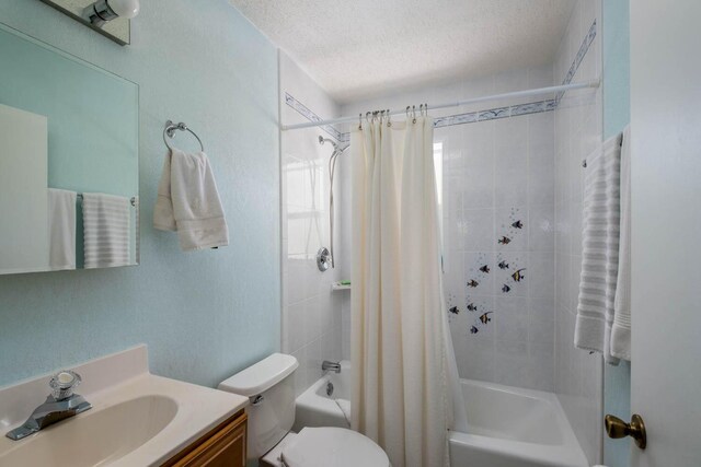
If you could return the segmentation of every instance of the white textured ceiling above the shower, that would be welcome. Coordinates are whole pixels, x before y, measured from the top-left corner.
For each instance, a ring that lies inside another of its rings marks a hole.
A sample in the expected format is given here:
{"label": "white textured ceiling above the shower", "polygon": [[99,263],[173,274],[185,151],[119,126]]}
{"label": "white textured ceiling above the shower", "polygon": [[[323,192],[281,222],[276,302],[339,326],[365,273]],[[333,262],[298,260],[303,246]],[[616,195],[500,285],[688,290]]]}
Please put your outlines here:
{"label": "white textured ceiling above the shower", "polygon": [[552,61],[574,0],[230,0],[340,104]]}

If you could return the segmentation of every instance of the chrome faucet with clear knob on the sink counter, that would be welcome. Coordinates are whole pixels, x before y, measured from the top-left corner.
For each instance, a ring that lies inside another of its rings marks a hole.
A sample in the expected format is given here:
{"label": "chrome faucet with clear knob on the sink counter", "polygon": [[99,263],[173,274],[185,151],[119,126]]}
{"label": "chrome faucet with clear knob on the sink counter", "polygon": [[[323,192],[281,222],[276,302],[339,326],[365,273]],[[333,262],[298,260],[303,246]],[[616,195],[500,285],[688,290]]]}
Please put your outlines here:
{"label": "chrome faucet with clear knob on the sink counter", "polygon": [[14,441],[22,440],[48,425],[91,409],[92,405],[83,396],[73,394],[81,381],[76,372],[61,371],[55,374],[48,383],[51,394],[46,401],[34,409],[22,427],[9,431],[5,436]]}

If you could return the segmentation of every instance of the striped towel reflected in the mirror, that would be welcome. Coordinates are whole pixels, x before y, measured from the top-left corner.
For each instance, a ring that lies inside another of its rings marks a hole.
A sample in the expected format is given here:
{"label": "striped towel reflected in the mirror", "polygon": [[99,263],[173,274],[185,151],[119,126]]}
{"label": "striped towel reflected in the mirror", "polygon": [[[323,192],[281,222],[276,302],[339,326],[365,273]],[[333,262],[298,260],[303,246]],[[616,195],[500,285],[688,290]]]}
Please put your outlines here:
{"label": "striped towel reflected in the mirror", "polygon": [[85,269],[128,266],[128,198],[101,192],[83,194]]}

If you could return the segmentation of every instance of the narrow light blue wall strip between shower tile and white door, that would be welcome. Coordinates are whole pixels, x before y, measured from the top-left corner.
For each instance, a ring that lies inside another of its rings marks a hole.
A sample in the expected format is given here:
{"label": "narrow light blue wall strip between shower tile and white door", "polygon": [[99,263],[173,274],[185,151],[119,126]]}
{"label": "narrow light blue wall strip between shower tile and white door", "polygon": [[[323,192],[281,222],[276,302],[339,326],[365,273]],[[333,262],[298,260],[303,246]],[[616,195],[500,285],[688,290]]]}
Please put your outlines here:
{"label": "narrow light blue wall strip between shower tile and white door", "polygon": [[[631,118],[629,0],[604,0],[604,139],[619,133]],[[631,365],[606,365],[604,411],[630,420]],[[604,441],[604,463],[609,467],[630,465],[629,439]]]}

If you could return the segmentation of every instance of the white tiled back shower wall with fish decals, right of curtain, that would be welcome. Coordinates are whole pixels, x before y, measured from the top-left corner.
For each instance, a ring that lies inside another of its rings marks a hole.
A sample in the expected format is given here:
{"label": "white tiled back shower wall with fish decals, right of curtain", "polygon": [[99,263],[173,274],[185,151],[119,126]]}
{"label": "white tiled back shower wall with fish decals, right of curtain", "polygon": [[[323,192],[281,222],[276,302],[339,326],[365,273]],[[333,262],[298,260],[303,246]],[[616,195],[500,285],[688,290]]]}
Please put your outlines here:
{"label": "white tiled back shower wall with fish decals, right of curtain", "polygon": [[552,114],[450,132],[436,130],[436,139],[444,145],[444,265],[460,375],[553,390]]}

